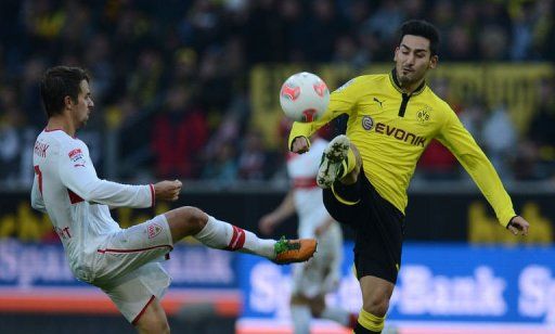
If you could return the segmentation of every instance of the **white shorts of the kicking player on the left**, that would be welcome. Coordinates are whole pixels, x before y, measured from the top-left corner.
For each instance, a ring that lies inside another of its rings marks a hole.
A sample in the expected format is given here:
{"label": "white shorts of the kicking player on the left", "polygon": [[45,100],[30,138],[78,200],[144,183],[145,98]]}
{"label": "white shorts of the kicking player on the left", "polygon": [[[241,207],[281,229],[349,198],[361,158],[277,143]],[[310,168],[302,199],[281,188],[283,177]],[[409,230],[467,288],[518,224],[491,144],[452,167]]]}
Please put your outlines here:
{"label": "white shorts of the kicking player on the left", "polygon": [[104,291],[131,323],[171,282],[159,264],[173,248],[164,215],[109,235],[94,261],[93,285]]}

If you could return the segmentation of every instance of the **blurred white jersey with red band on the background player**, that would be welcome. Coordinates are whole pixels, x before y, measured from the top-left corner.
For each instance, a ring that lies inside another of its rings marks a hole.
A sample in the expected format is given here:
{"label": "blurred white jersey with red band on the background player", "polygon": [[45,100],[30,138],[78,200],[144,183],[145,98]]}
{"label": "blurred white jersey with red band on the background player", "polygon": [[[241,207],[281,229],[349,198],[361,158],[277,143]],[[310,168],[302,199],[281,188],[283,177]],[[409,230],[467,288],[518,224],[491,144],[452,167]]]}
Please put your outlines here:
{"label": "blurred white jersey with red band on the background player", "polygon": [[299,217],[299,237],[314,237],[314,230],[328,216],[317,184],[318,168],[327,141],[317,138],[305,154],[288,153],[287,174],[295,189],[295,208]]}

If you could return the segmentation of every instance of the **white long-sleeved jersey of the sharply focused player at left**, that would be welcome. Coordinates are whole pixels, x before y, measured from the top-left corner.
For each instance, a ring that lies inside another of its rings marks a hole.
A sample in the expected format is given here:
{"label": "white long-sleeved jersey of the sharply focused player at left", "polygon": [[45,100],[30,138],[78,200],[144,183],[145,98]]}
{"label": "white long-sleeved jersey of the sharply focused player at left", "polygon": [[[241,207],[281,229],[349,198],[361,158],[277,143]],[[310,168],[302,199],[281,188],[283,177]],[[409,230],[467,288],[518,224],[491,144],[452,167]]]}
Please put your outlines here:
{"label": "white long-sleeved jersey of the sharply focused player at left", "polygon": [[121,230],[108,206],[150,207],[154,188],[99,179],[87,145],[62,130],[38,136],[33,165],[31,206],[49,215],[72,271],[88,281],[98,246],[107,234]]}

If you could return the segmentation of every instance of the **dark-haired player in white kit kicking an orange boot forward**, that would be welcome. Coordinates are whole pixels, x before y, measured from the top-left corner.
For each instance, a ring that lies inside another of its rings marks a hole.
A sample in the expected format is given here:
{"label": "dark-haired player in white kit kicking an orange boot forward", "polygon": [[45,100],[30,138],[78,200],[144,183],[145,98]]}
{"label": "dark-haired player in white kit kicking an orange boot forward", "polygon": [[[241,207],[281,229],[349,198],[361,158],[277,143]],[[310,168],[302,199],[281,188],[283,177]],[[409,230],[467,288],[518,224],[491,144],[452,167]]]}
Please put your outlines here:
{"label": "dark-haired player in white kit kicking an orange boot forward", "polygon": [[34,150],[34,208],[47,213],[64,245],[74,275],[102,288],[140,333],[168,333],[159,304],[170,283],[159,259],[192,235],[206,246],[266,257],[278,264],[306,261],[315,240],[263,240],[196,207],[180,207],[121,229],[109,207],[150,207],[176,201],[181,182],[128,185],[99,179],[87,145],[77,139],[93,108],[89,76],[78,67],[47,70],[40,93],[48,125]]}

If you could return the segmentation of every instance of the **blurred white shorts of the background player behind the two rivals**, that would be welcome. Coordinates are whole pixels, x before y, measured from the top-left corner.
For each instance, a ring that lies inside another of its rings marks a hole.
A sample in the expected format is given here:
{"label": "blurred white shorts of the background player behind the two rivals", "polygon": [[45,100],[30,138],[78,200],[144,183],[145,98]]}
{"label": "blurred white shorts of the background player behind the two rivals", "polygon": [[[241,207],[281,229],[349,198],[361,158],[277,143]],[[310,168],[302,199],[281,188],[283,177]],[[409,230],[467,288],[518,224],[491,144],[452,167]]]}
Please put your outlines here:
{"label": "blurred white shorts of the background player behind the two rivals", "polygon": [[340,273],[343,261],[343,232],[339,223],[332,223],[317,239],[318,252],[314,257],[307,262],[293,265],[294,295],[313,298],[337,288],[332,284],[332,275]]}

